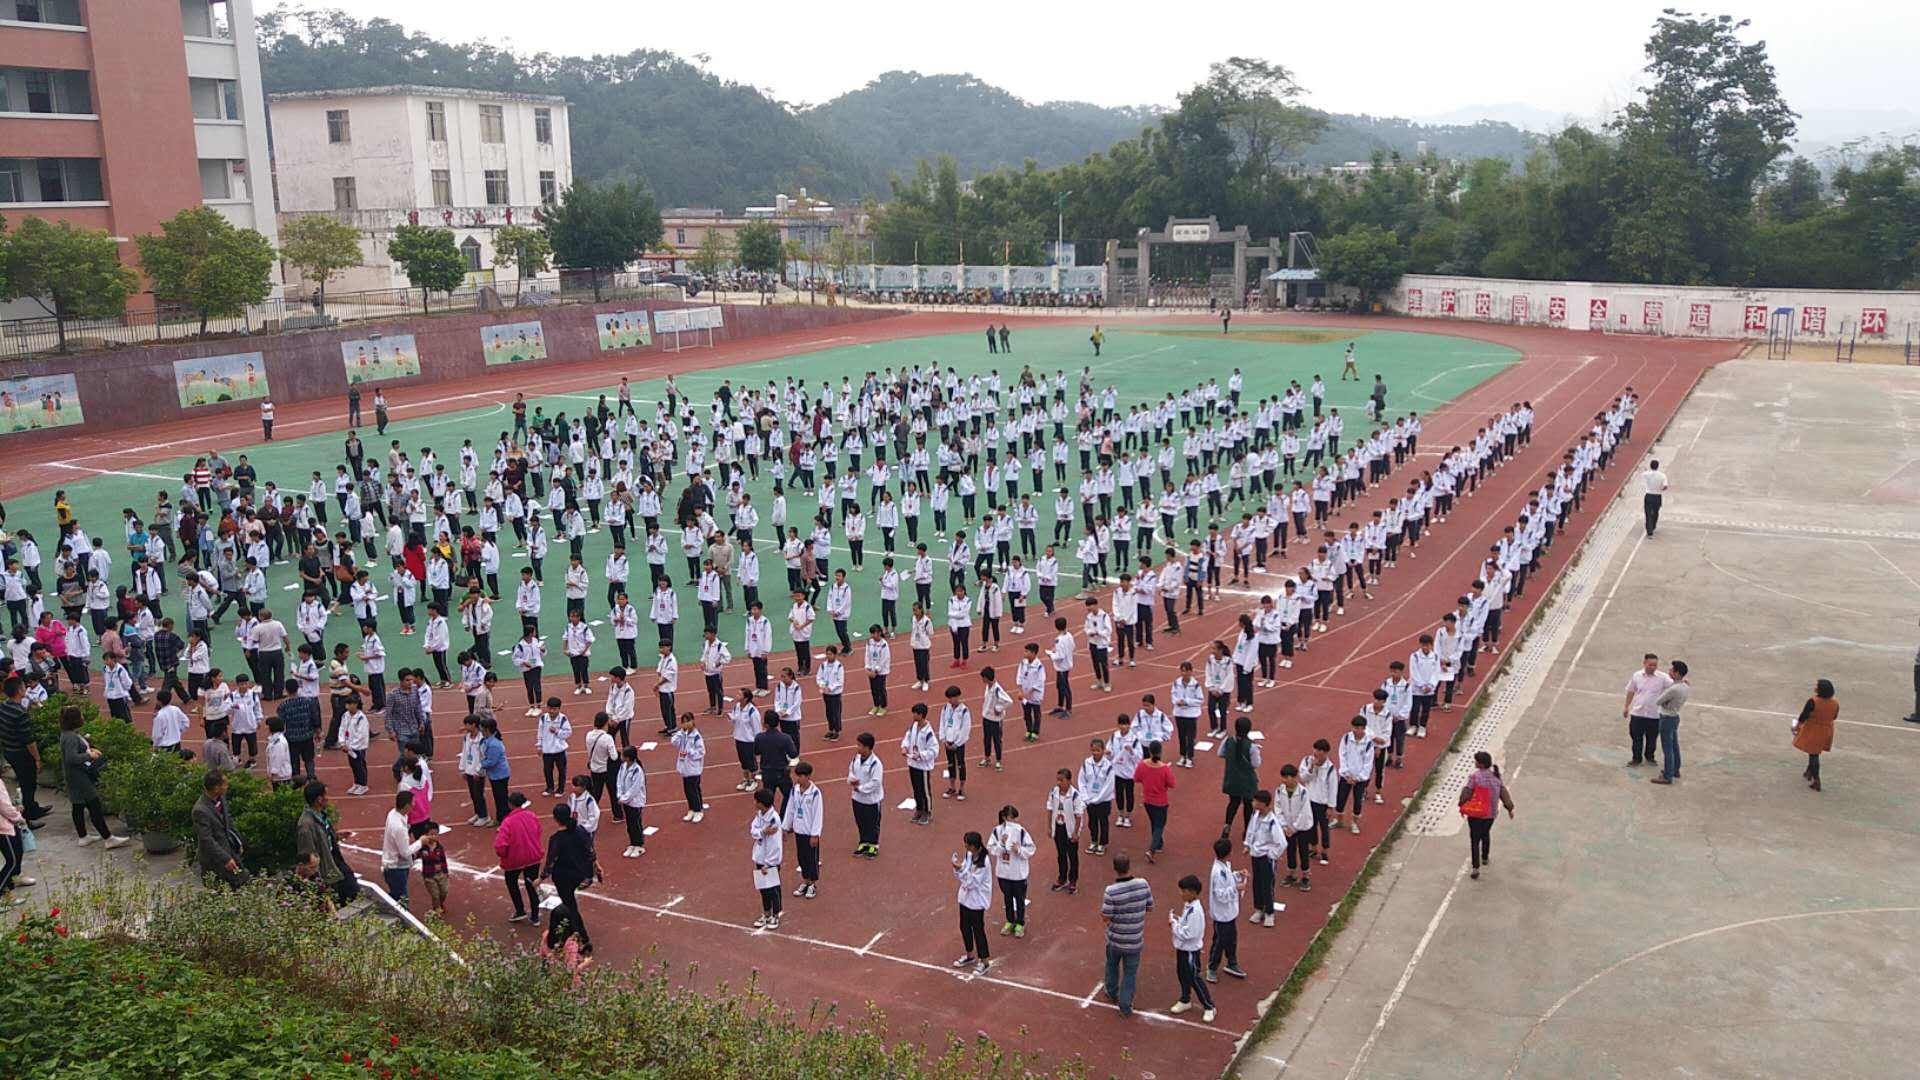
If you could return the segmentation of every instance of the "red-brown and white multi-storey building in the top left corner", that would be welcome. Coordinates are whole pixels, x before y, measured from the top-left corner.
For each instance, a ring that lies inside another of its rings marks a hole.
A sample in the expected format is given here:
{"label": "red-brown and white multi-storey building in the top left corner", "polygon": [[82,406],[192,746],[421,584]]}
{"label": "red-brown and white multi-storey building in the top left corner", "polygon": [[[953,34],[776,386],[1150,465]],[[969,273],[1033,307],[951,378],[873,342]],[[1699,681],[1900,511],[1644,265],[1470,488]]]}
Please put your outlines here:
{"label": "red-brown and white multi-storey building in the top left corner", "polygon": [[0,0],[0,215],[104,229],[138,269],[192,206],[278,242],[253,2]]}

